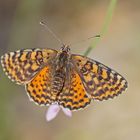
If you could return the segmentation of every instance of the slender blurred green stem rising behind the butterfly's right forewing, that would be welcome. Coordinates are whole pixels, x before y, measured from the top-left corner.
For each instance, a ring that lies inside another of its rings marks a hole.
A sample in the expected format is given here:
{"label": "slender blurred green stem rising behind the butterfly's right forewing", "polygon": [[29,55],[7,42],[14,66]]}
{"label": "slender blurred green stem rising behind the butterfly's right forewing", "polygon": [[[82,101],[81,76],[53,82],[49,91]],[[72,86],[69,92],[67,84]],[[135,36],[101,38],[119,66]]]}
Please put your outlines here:
{"label": "slender blurred green stem rising behind the butterfly's right forewing", "polygon": [[112,16],[113,16],[113,12],[116,6],[117,0],[111,0],[109,7],[108,7],[108,11],[107,11],[107,15],[105,18],[105,22],[103,24],[102,30],[100,32],[100,36],[101,37],[96,37],[94,38],[94,40],[92,41],[91,45],[87,48],[86,52],[84,53],[85,56],[87,56],[93,48],[95,48],[95,46],[97,45],[97,43],[99,43],[99,41],[101,40],[101,38],[105,35],[105,33],[108,31]]}

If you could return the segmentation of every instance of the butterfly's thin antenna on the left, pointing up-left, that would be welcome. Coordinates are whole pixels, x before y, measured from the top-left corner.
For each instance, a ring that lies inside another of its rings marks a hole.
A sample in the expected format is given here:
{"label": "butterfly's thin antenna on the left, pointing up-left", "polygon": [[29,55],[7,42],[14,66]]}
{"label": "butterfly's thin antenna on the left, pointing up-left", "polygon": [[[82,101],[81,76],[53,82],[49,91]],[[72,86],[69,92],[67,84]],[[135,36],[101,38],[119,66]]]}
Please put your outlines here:
{"label": "butterfly's thin antenna on the left, pointing up-left", "polygon": [[49,31],[49,32],[52,34],[52,36],[53,36],[61,45],[64,45],[64,43],[62,42],[62,40],[51,30],[51,28],[50,28],[46,23],[44,23],[43,21],[41,21],[39,24],[42,25],[42,26],[44,26],[45,29],[47,29],[47,31]]}

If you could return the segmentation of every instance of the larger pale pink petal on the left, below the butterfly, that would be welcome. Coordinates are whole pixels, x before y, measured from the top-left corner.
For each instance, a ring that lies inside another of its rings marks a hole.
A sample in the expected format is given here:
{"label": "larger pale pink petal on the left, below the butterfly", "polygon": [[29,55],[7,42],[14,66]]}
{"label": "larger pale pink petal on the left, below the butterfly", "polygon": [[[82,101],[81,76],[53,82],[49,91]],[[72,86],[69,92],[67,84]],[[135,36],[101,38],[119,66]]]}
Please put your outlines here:
{"label": "larger pale pink petal on the left, below the butterfly", "polygon": [[52,119],[54,119],[57,116],[59,110],[60,110],[59,105],[57,104],[50,105],[46,113],[46,120],[51,121]]}

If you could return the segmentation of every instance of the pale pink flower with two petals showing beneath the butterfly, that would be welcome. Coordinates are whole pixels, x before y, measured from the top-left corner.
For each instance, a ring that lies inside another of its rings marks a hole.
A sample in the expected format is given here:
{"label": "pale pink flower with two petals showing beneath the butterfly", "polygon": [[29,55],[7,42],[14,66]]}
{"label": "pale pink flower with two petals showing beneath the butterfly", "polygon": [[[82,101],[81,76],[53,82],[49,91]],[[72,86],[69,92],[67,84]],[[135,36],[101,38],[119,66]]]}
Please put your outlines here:
{"label": "pale pink flower with two petals showing beneath the butterfly", "polygon": [[64,114],[68,117],[72,116],[72,112],[68,108],[60,107],[58,104],[50,105],[47,112],[46,112],[46,120],[51,121],[53,120],[57,114],[59,113],[60,109],[64,112]]}

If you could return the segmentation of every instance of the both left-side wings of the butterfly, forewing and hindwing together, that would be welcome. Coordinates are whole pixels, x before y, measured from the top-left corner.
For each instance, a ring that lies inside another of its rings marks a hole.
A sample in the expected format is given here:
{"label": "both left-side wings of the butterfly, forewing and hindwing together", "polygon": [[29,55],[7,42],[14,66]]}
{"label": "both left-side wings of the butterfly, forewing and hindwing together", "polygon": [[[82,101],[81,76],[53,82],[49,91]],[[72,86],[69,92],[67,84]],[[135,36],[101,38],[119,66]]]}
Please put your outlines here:
{"label": "both left-side wings of the butterfly, forewing and hindwing together", "polygon": [[12,81],[26,86],[31,100],[47,105],[51,102],[51,60],[56,54],[52,49],[24,49],[3,55],[1,64]]}

